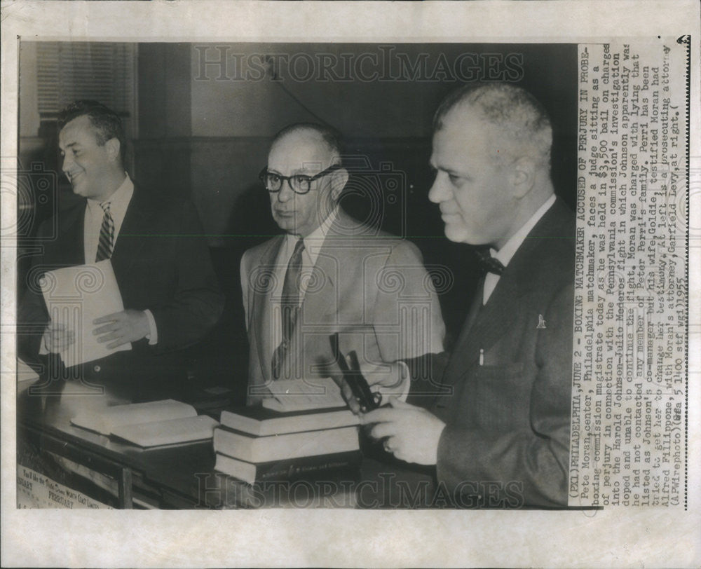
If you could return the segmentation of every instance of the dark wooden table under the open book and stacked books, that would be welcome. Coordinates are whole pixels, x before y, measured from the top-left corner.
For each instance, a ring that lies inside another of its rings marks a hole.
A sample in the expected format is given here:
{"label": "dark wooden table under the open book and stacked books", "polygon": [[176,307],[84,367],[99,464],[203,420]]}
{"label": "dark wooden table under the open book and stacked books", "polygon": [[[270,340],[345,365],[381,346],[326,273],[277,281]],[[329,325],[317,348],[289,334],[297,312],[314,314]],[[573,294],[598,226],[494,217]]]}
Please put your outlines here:
{"label": "dark wooden table under the open book and stacked books", "polygon": [[[215,472],[212,441],[139,448],[71,425],[67,397],[18,398],[18,462],[118,508],[422,507],[430,470],[364,445],[360,468],[245,484]],[[212,411],[218,419],[219,413]]]}

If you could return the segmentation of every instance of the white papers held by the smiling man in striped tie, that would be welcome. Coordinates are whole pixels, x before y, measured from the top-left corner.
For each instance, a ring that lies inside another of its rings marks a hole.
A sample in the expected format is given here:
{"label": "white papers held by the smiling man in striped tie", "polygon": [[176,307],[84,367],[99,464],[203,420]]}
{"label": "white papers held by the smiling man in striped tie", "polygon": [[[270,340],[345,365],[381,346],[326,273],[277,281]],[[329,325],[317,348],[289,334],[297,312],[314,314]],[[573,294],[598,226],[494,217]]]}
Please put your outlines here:
{"label": "white papers held by the smiling man in striped tie", "polygon": [[[129,343],[110,348],[93,335],[96,320],[124,309],[109,259],[99,263],[48,270],[40,281],[49,317],[49,337],[55,340],[66,366],[100,359],[118,350],[131,350]],[[67,338],[74,334],[75,341]]]}

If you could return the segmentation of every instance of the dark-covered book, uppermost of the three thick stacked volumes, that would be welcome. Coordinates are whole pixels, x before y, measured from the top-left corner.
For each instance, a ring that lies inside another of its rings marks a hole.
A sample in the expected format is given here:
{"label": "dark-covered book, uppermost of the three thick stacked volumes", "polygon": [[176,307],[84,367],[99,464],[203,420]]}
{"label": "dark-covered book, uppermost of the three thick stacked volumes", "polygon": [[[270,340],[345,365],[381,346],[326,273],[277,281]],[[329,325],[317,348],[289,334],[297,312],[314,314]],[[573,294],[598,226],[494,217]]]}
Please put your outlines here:
{"label": "dark-covered book, uppermost of the three thick stacked volumes", "polygon": [[264,406],[238,407],[222,411],[220,422],[237,431],[265,437],[270,434],[335,429],[358,425],[358,416],[348,407],[281,412]]}

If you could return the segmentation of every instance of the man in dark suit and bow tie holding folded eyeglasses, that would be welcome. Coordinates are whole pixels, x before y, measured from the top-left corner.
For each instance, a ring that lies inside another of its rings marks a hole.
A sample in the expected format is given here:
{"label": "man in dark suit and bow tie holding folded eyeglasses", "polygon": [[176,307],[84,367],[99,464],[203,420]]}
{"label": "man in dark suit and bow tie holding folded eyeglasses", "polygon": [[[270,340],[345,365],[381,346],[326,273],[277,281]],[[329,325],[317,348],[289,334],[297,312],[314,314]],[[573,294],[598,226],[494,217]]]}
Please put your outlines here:
{"label": "man in dark suit and bow tie holding folded eyeglasses", "polygon": [[486,275],[440,389],[411,386],[442,395],[362,420],[397,458],[436,465],[458,506],[567,505],[575,224],[551,145],[545,111],[515,85],[462,88],[435,116],[429,198],[447,238],[480,246]]}

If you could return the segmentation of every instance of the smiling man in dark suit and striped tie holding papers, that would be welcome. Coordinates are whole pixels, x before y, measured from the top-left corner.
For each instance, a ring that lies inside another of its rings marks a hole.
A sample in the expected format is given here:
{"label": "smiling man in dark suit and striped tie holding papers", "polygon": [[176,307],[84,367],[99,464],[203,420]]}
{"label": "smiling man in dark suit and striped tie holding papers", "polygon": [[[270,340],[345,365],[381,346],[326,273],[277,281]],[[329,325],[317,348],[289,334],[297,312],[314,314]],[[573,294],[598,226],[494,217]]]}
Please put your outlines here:
{"label": "smiling man in dark suit and striped tie holding papers", "polygon": [[[57,227],[29,273],[18,314],[18,348],[45,364],[47,390],[78,379],[86,393],[104,387],[117,399],[177,397],[186,381],[181,348],[199,341],[219,319],[223,296],[192,203],[135,187],[123,167],[125,136],[114,111],[76,101],[59,117],[62,170],[85,198],[46,222]],[[46,270],[110,259],[125,310],[94,322],[98,342],[131,350],[65,369],[57,354],[81,341],[50,322],[36,286]]]}

